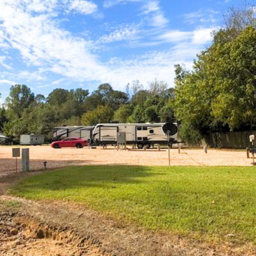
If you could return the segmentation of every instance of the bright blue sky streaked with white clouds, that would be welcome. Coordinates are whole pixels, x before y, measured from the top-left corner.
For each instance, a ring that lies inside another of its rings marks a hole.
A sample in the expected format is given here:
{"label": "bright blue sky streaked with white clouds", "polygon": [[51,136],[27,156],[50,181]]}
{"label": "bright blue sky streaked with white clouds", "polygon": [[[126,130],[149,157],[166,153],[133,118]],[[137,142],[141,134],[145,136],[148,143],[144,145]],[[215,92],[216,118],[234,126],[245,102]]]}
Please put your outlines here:
{"label": "bright blue sky streaked with white clouds", "polygon": [[229,6],[242,0],[1,0],[0,92],[163,80],[192,67]]}

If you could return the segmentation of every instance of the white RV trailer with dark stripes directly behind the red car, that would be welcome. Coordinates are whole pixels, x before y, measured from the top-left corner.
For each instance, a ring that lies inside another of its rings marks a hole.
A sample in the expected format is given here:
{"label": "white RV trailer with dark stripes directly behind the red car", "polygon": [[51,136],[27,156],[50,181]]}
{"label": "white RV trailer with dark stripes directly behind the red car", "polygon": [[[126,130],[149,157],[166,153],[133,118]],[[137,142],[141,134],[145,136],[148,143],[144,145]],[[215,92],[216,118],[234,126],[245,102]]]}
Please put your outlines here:
{"label": "white RV trailer with dark stripes directly behind the red car", "polygon": [[94,126],[59,126],[53,129],[53,139],[75,137],[91,142]]}

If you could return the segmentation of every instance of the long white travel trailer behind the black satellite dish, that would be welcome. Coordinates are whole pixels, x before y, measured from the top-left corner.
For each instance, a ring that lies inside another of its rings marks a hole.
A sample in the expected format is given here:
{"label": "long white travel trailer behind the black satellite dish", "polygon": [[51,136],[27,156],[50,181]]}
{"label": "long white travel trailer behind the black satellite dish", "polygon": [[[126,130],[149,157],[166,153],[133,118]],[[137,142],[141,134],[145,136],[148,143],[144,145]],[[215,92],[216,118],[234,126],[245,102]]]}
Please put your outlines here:
{"label": "long white travel trailer behind the black satellite dish", "polygon": [[[170,127],[170,138],[163,130],[164,125]],[[153,144],[169,144],[178,142],[177,123],[144,123],[144,124],[97,124],[93,130],[95,145],[107,145],[117,143],[117,133],[125,132],[126,144],[137,145],[138,148]]]}

